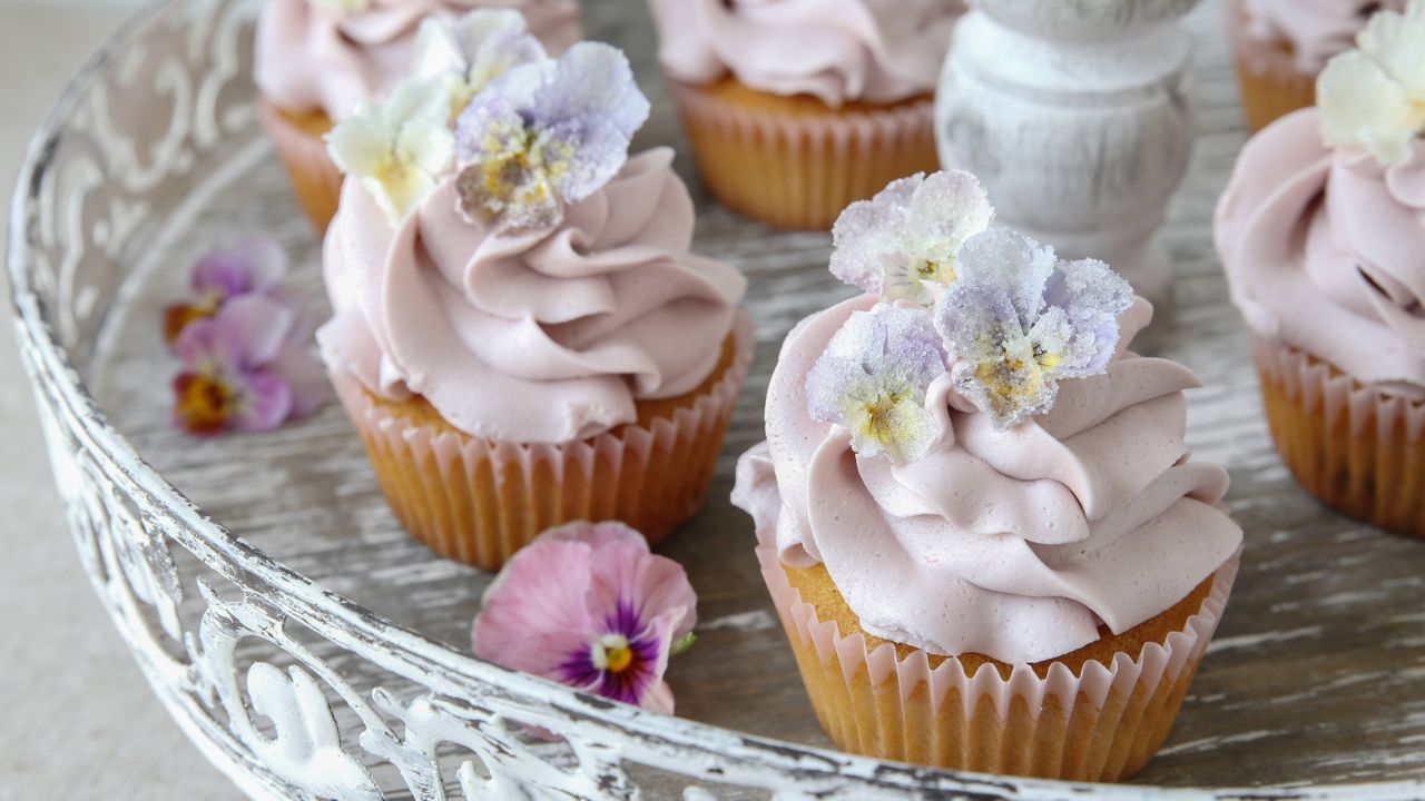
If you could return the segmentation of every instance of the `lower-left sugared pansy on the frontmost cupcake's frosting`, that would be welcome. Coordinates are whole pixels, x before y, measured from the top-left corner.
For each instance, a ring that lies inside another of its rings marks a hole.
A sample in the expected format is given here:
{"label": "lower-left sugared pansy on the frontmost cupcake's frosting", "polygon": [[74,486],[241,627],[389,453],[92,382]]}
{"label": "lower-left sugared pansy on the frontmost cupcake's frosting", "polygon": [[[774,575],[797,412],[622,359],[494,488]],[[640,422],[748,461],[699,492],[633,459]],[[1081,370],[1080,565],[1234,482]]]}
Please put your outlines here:
{"label": "lower-left sugared pansy on the frontmost cupcake's frosting", "polygon": [[945,348],[928,312],[855,312],[807,373],[807,412],[846,429],[862,456],[912,462],[940,433],[925,392],[942,375]]}

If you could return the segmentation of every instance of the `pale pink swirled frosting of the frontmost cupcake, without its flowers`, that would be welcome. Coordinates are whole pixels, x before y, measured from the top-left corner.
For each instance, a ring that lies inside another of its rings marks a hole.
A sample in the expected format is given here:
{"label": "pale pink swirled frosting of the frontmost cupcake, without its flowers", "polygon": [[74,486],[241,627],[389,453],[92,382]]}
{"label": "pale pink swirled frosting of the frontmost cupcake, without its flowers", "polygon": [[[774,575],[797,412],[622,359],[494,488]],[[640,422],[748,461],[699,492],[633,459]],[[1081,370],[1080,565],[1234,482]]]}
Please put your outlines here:
{"label": "pale pink swirled frosting of the frontmost cupcake, without its flowers", "polygon": [[[942,436],[906,465],[859,458],[807,413],[807,373],[859,296],[814,315],[782,346],[767,443],[738,465],[734,502],[787,564],[821,562],[864,629],[938,654],[1007,663],[1063,656],[1164,611],[1241,546],[1218,509],[1227,472],[1188,462],[1186,368],[1121,351],[1104,375],[1064,381],[1053,410],[1007,432],[928,406]],[[1147,325],[1139,301],[1123,343]]]}

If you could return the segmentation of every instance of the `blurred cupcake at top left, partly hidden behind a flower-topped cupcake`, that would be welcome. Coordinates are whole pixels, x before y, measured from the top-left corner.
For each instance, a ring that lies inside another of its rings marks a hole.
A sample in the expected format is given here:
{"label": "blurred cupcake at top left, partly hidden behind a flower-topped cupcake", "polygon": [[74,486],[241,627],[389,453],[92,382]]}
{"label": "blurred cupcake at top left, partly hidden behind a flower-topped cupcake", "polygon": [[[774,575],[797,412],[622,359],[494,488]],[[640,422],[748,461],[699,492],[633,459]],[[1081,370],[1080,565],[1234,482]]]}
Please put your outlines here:
{"label": "blurred cupcake at top left, partly hidden behind a flower-topped cupcake", "polygon": [[410,67],[420,24],[475,7],[522,11],[561,53],[580,38],[574,0],[266,0],[258,17],[258,114],[318,232],[336,214],[342,177],[322,138],[358,103],[379,101]]}

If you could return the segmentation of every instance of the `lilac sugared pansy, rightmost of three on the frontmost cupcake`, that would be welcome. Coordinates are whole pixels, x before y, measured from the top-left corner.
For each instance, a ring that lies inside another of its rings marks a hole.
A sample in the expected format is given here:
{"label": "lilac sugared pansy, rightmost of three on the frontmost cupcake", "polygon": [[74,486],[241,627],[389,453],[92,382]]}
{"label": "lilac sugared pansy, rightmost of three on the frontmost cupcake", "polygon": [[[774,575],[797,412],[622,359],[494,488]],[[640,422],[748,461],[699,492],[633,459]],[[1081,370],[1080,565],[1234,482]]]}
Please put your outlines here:
{"label": "lilac sugared pansy, rightmost of three on the frontmost cupcake", "polygon": [[1015,231],[986,231],[960,251],[960,281],[936,328],[955,389],[1009,429],[1053,408],[1059,379],[1103,372],[1133,288],[1102,261],[1062,261]]}

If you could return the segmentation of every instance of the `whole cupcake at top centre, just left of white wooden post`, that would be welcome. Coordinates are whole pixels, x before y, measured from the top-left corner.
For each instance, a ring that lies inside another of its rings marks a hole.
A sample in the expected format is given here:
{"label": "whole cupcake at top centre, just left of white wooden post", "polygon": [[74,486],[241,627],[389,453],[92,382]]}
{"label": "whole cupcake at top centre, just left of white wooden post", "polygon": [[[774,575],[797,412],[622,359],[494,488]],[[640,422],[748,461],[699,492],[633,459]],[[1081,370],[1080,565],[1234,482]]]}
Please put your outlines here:
{"label": "whole cupcake at top centre, just left of white wooden post", "polygon": [[959,0],[651,0],[703,182],[781,228],[935,170],[933,93]]}

